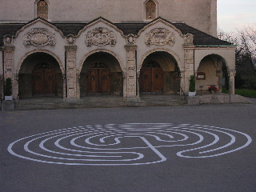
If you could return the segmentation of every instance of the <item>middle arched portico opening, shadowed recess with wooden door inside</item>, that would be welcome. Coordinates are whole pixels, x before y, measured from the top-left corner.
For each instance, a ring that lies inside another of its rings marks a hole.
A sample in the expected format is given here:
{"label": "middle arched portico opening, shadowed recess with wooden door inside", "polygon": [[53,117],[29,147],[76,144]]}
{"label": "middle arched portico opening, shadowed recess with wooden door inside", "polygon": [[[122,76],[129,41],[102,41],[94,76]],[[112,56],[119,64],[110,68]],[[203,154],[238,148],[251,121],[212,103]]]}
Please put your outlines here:
{"label": "middle arched portico opening, shadowed recess with wooden door inside", "polygon": [[87,94],[122,94],[122,68],[120,59],[109,51],[86,54],[79,66],[80,96]]}

